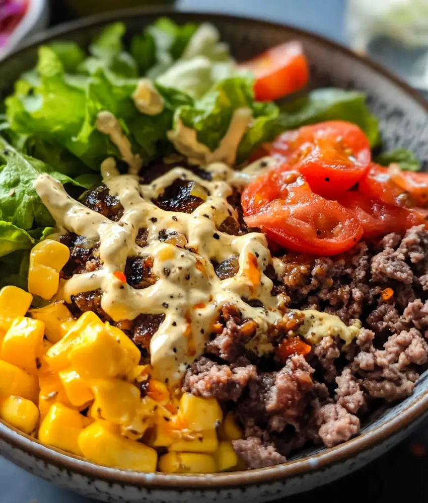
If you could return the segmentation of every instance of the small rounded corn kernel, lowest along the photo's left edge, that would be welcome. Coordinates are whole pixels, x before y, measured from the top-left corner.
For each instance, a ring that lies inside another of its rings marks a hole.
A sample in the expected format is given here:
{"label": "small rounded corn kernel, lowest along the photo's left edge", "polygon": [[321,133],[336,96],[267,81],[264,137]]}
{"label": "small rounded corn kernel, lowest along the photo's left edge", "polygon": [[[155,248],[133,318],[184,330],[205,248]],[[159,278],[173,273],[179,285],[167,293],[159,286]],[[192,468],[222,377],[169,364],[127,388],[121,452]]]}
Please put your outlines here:
{"label": "small rounded corn kernel, lowest along the photo's left edge", "polygon": [[18,430],[31,435],[39,422],[39,409],[27,398],[9,396],[0,405],[0,417]]}

